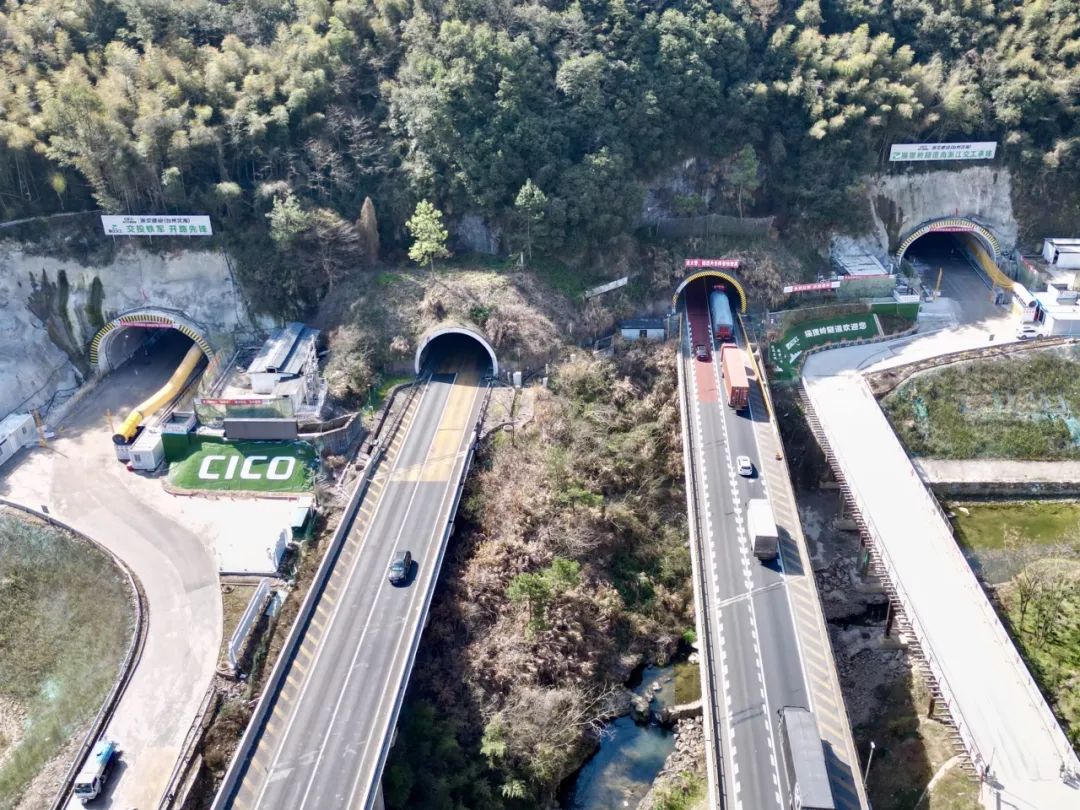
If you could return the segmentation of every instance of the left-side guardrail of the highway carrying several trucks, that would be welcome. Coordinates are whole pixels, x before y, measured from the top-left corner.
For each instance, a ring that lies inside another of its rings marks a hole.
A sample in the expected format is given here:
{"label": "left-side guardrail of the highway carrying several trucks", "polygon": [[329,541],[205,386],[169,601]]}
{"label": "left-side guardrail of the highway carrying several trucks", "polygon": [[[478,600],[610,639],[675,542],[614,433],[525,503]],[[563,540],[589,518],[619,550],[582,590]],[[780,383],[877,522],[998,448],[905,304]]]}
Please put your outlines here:
{"label": "left-side guardrail of the highway carrying several trucks", "polygon": [[701,546],[701,507],[698,502],[698,477],[696,474],[697,465],[693,462],[694,445],[692,431],[690,430],[690,409],[689,403],[687,402],[686,373],[683,367],[683,349],[685,341],[683,323],[683,319],[680,318],[678,332],[679,348],[677,350],[678,357],[675,363],[675,367],[678,376],[678,399],[679,409],[681,411],[681,418],[679,421],[683,431],[683,467],[685,468],[686,477],[687,514],[690,517],[690,557],[693,563],[692,567],[696,573],[696,576],[692,577],[693,598],[699,608],[697,611],[697,630],[698,637],[702,643],[701,653],[704,664],[701,669],[702,694],[705,696],[705,700],[702,701],[705,720],[702,725],[702,730],[705,734],[705,764],[708,771],[708,778],[712,780],[712,784],[716,786],[716,794],[710,797],[708,804],[710,807],[723,808],[726,806],[724,775],[720,770],[719,762],[716,759],[719,740],[714,737],[720,711],[716,693],[712,689],[711,680],[706,675],[708,672],[717,672],[718,670],[716,669],[713,651],[713,623],[708,609],[708,599],[705,595],[708,579],[705,575],[703,549]]}

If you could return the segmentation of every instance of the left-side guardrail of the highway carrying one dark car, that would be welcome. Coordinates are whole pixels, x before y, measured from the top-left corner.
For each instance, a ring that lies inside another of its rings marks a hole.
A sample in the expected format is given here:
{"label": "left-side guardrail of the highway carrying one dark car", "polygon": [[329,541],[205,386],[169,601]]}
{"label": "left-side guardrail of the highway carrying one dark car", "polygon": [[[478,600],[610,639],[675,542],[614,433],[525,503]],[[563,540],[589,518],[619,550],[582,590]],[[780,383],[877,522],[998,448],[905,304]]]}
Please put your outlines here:
{"label": "left-side guardrail of the highway carrying one dark car", "polygon": [[[422,391],[427,387],[430,375],[417,380],[416,383],[414,383],[414,388],[409,393],[409,399],[405,403],[405,407],[402,408],[402,411],[397,415],[394,422],[390,427],[386,438],[387,443],[389,443],[389,440],[401,428],[401,423],[404,420],[405,415],[408,413],[408,406],[416,397],[417,392]],[[270,673],[270,677],[267,678],[267,683],[262,686],[262,694],[259,697],[255,711],[252,713],[252,718],[248,720],[247,728],[244,730],[243,737],[240,738],[237,751],[233,753],[232,760],[229,762],[229,769],[226,771],[225,778],[218,786],[217,795],[214,797],[214,804],[211,806],[212,810],[225,810],[228,808],[240,787],[240,781],[247,769],[247,762],[251,760],[255,746],[258,743],[262,729],[266,726],[267,717],[273,708],[278,693],[281,691],[282,681],[285,679],[289,664],[296,654],[296,650],[299,648],[303,634],[307,631],[308,623],[311,620],[311,616],[314,613],[315,606],[319,604],[319,597],[326,588],[326,582],[329,580],[330,572],[334,570],[334,563],[337,561],[341,546],[343,545],[346,538],[349,536],[349,531],[352,529],[352,524],[356,517],[360,504],[363,501],[364,492],[367,491],[367,486],[372,482],[372,476],[374,475],[376,468],[378,468],[381,463],[384,453],[386,447],[383,440],[379,440],[379,444],[376,446],[367,465],[364,468],[363,474],[356,480],[356,486],[353,488],[352,495],[349,498],[349,503],[346,507],[345,512],[341,514],[341,521],[334,530],[330,543],[326,549],[326,553],[323,555],[322,563],[319,565],[319,570],[315,572],[315,577],[311,582],[311,588],[308,590],[308,595],[300,605],[300,609],[296,615],[296,620],[293,622],[293,627],[289,630],[288,636],[285,638],[285,644],[282,645],[281,652],[279,653],[278,661],[274,663],[274,667]]]}

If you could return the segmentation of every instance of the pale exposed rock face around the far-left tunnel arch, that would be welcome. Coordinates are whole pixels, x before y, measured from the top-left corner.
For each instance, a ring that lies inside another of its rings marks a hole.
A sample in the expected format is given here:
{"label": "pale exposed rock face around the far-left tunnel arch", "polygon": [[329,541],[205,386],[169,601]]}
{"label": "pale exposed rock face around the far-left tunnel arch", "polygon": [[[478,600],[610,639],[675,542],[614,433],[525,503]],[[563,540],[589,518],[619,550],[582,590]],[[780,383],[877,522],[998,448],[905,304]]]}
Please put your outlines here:
{"label": "pale exposed rock face around the far-left tunnel arch", "polygon": [[107,265],[82,266],[0,243],[0,417],[79,384],[97,330],[138,307],[178,310],[211,337],[253,326],[220,253],[125,246]]}

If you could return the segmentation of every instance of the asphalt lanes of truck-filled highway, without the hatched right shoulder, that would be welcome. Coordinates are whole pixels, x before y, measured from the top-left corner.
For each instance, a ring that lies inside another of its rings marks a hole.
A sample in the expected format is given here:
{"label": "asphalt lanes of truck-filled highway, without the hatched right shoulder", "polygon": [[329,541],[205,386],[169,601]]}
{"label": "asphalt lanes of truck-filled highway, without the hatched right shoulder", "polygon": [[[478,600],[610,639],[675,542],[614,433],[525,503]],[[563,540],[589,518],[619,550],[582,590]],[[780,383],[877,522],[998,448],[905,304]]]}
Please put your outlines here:
{"label": "asphalt lanes of truck-filled highway, without the hatched right shoulder", "polygon": [[[705,511],[704,558],[719,639],[719,672],[708,673],[720,696],[720,728],[728,807],[747,810],[786,808],[789,788],[780,750],[777,711],[807,706],[801,658],[783,572],[783,554],[772,563],[757,559],[745,530],[746,503],[767,497],[764,478],[735,472],[739,456],[748,456],[755,471],[760,459],[754,420],[767,419],[753,409],[737,414],[725,401],[719,355],[707,361],[688,347],[708,336],[703,285],[687,289],[690,336],[681,352],[690,392],[693,432]],[[710,339],[710,343],[715,341]],[[741,338],[740,338],[741,342]],[[757,384],[752,379],[752,384]]]}

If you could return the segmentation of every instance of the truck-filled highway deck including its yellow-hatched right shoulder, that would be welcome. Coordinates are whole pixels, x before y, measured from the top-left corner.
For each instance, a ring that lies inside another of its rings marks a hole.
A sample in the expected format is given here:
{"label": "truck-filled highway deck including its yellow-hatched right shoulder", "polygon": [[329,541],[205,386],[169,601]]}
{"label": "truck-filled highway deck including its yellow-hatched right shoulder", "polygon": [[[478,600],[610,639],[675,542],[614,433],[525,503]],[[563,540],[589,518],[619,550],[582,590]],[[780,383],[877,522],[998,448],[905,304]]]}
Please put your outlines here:
{"label": "truck-filled highway deck including its yellow-hatched right shoulder", "polygon": [[[725,402],[718,354],[697,360],[690,347],[713,341],[703,285],[686,293],[687,335],[680,346],[689,444],[698,487],[700,565],[706,583],[704,611],[716,639],[715,665],[704,673],[719,717],[711,718],[725,806],[786,808],[791,796],[779,746],[777,711],[811,708],[826,743],[838,808],[865,804],[832,650],[807,555],[786,468],[775,458],[779,441],[757,379],[751,407],[735,413]],[[737,336],[745,347],[741,335]],[[762,449],[767,449],[768,457]],[[756,473],[737,474],[747,456]],[[781,555],[762,563],[752,551],[744,514],[752,498],[768,497],[782,527]],[[706,657],[707,658],[707,657]],[[708,667],[706,667],[708,669]],[[809,676],[809,679],[808,679]]]}

